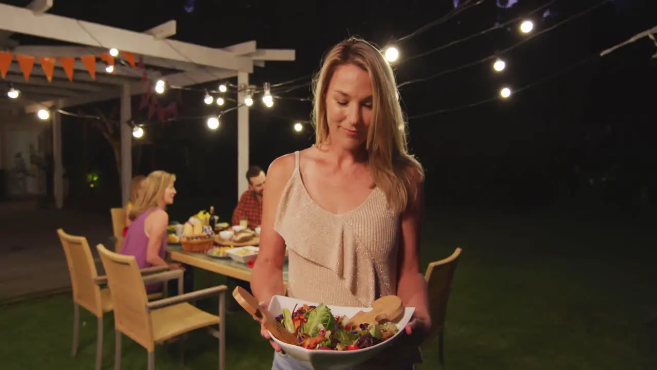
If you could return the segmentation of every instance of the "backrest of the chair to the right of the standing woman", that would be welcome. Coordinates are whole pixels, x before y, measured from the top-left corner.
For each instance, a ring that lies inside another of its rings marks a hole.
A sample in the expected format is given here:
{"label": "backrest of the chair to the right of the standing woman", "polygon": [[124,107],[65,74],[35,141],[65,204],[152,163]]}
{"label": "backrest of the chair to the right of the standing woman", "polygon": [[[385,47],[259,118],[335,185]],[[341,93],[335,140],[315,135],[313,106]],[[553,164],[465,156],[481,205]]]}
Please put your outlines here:
{"label": "backrest of the chair to the right of the standing woman", "polygon": [[445,325],[447,299],[459,255],[461,255],[461,248],[457,248],[452,255],[445,259],[429,263],[426,268],[424,278],[429,294],[429,313],[432,323],[432,332],[427,338],[427,342],[435,338]]}

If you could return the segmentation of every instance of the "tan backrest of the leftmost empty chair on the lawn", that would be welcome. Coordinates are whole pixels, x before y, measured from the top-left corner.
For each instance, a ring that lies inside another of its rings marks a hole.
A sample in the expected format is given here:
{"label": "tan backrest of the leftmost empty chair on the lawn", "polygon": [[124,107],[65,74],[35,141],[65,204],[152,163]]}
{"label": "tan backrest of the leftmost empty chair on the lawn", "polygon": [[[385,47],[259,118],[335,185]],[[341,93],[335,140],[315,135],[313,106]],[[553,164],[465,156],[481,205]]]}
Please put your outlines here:
{"label": "tan backrest of the leftmost empty chair on the lawn", "polygon": [[66,254],[73,302],[85,307],[97,317],[102,317],[101,288],[94,282],[98,271],[87,238],[66,234],[61,228],[57,229],[57,235]]}

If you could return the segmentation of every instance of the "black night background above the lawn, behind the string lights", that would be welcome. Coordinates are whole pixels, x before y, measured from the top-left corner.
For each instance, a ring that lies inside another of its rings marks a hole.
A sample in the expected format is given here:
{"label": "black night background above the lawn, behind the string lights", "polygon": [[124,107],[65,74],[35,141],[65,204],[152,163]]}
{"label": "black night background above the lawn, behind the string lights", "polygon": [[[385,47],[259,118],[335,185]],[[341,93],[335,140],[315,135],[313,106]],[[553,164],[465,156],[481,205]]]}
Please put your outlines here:
{"label": "black night background above the lawn, behind the string lights", "polygon": [[[401,44],[397,81],[449,70],[517,43],[523,36],[514,25],[404,61],[405,56],[470,36],[548,2],[519,0],[510,9],[501,9],[496,1],[485,0]],[[22,5],[27,1],[3,2]],[[194,10],[187,13],[184,7],[190,3]],[[599,0],[557,0],[548,8],[551,16],[542,18],[539,14],[534,18],[535,32],[595,3]],[[503,74],[493,73],[490,63],[482,63],[404,86],[401,96],[405,112],[413,117],[460,107],[495,97],[501,84],[520,87],[539,82],[655,26],[657,17],[649,14],[656,13],[646,8],[647,3],[612,1],[546,32],[501,55],[507,60]],[[55,0],[50,13],[136,31],[175,19],[175,40],[210,47],[256,40],[260,48],[296,49],[295,62],[267,63],[251,77],[254,84],[274,84],[316,72],[323,53],[349,35],[384,46],[452,9],[453,0],[114,0],[102,7],[97,1]],[[561,198],[566,202],[595,198],[626,204],[635,203],[642,189],[651,188],[654,194],[655,170],[648,158],[657,157],[652,145],[655,116],[651,109],[657,97],[657,59],[650,58],[655,51],[646,38],[520,92],[509,101],[409,120],[411,149],[427,169],[429,201],[482,204],[497,200],[522,207]],[[285,94],[298,98],[309,95],[307,87]],[[183,93],[181,114],[212,113],[202,97],[198,92]],[[252,109],[252,163],[266,168],[278,155],[311,144],[309,130],[298,135],[291,128],[293,120],[307,120],[310,109],[307,102],[287,99],[277,100],[271,111]],[[179,175],[179,192],[225,192],[232,198],[237,188],[236,120],[237,115],[227,114],[220,130],[212,133],[208,133],[204,120],[174,123],[175,128],[156,127],[161,131],[157,134],[156,167]],[[69,123],[64,140],[81,140],[79,124]],[[173,142],[176,130],[191,130],[195,139]],[[93,132],[89,132],[88,140],[89,158],[82,160],[81,153],[68,153],[64,163],[67,169],[97,169],[116,176],[109,170],[113,166],[109,147]],[[150,158],[148,150],[143,157]],[[185,155],[196,159],[191,169],[185,168]],[[139,171],[152,170],[152,163],[143,159]],[[214,174],[208,174],[208,169]],[[216,172],[223,172],[223,178]],[[208,180],[215,185],[208,187]]]}

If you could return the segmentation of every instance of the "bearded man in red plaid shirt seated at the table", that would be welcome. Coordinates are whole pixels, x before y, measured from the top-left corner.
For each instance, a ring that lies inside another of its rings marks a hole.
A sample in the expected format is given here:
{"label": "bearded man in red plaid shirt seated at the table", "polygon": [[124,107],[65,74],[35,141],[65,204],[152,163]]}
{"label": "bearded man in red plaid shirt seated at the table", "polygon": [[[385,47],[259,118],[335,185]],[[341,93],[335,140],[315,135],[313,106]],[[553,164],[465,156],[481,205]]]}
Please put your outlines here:
{"label": "bearded man in red plaid shirt seated at the table", "polygon": [[[265,190],[265,178],[265,171],[258,166],[252,166],[246,171],[248,190],[242,194],[237,207],[235,207],[235,211],[233,211],[233,219],[231,219],[233,225],[240,225],[240,221],[245,220],[247,227],[251,230],[260,226],[262,219],[262,192]],[[231,285],[231,290],[234,289],[233,285],[238,285],[249,292],[251,291],[250,284],[244,280],[229,277],[228,282]],[[235,298],[231,299],[228,311],[233,312],[239,309],[240,306]]]}

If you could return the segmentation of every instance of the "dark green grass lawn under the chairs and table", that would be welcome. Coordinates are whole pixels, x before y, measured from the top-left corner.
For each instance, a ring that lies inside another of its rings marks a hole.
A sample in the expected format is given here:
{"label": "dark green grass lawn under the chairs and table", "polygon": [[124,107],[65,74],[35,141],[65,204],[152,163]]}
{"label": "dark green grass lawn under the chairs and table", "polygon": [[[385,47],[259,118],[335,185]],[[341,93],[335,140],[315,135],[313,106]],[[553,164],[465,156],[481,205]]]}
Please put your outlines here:
{"label": "dark green grass lawn under the chairs and table", "polygon": [[[447,312],[449,369],[655,369],[657,253],[648,230],[574,216],[450,213],[426,221],[423,267],[463,248]],[[204,272],[196,272],[203,282]],[[212,284],[222,277],[208,277]],[[200,307],[216,310],[212,300]],[[81,310],[80,350],[70,357],[70,294],[0,306],[0,368],[91,369],[95,318]],[[272,352],[246,314],[226,317],[227,369],[271,369]],[[217,340],[187,340],[184,369],[217,366]],[[179,369],[178,348],[156,350],[157,369]],[[114,330],[106,315],[104,369]],[[420,369],[437,369],[436,343]],[[124,336],[122,369],[145,369]]]}

